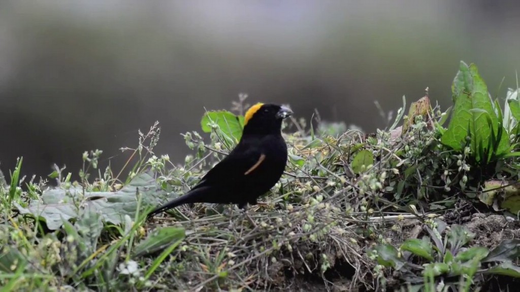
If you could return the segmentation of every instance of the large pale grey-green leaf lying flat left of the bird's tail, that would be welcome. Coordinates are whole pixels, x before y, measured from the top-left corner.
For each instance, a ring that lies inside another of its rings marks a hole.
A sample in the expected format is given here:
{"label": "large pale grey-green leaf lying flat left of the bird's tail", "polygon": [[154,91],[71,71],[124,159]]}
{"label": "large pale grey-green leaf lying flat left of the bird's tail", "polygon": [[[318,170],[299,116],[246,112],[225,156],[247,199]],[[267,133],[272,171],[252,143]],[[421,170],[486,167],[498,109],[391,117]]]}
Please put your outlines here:
{"label": "large pale grey-green leaf lying flat left of the bird's tail", "polygon": [[[165,192],[150,172],[137,175],[130,183],[117,192],[85,192],[77,189],[49,189],[43,192],[40,200],[32,200],[27,208],[15,203],[21,214],[28,214],[44,220],[47,227],[56,230],[63,220],[78,219],[84,210],[91,209],[101,215],[102,220],[119,224],[124,216],[135,216],[137,209],[137,190],[141,195],[141,205],[159,205]],[[82,225],[94,228],[96,218],[83,218]],[[92,220],[91,220],[92,219]],[[90,231],[89,231],[90,232]],[[95,231],[97,233],[98,231]]]}

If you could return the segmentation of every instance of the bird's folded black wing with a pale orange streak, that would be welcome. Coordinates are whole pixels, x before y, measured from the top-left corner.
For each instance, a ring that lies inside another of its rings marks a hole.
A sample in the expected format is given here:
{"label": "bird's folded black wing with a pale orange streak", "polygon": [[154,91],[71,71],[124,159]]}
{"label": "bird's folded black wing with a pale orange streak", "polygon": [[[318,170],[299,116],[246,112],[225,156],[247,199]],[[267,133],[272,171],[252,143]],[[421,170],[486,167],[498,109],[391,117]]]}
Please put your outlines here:
{"label": "bird's folded black wing with a pale orange streak", "polygon": [[265,154],[255,147],[238,145],[228,156],[215,165],[197,185],[225,183],[240,180],[254,172],[265,161]]}

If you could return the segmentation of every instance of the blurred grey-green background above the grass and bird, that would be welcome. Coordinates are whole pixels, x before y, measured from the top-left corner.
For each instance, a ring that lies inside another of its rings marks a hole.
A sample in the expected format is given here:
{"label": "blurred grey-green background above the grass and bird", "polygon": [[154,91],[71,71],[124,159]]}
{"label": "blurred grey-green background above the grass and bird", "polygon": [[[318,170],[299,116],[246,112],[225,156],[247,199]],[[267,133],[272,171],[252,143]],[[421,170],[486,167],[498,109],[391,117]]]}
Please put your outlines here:
{"label": "blurred grey-green background above the grass and bird", "polygon": [[[516,87],[517,1],[2,1],[0,168],[53,163],[74,175],[85,150],[119,170],[137,129],[162,126],[158,154],[182,162],[181,132],[206,109],[249,102],[314,109],[327,121],[384,128],[430,87],[446,109],[460,60],[493,96]],[[498,90],[501,79],[505,81]]]}

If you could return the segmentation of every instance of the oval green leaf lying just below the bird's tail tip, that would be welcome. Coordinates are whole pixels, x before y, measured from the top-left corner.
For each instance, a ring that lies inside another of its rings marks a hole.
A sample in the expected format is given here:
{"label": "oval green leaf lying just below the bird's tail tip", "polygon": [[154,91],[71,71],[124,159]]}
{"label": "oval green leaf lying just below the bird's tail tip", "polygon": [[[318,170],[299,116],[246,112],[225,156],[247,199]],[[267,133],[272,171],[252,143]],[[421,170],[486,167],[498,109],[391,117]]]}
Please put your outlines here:
{"label": "oval green leaf lying just below the bird's tail tip", "polygon": [[140,257],[155,253],[173,243],[180,242],[186,237],[184,228],[163,227],[153,231],[145,240],[141,241],[134,249],[134,257]]}

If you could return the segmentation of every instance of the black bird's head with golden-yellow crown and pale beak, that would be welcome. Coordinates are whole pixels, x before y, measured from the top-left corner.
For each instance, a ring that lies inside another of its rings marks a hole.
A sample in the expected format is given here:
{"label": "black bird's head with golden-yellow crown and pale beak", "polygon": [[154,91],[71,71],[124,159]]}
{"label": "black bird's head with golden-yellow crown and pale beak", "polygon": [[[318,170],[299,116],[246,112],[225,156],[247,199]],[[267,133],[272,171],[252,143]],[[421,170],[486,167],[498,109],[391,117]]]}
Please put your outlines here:
{"label": "black bird's head with golden-yellow crown and pale beak", "polygon": [[292,115],[289,108],[272,103],[257,103],[244,115],[244,135],[279,133],[282,120]]}

